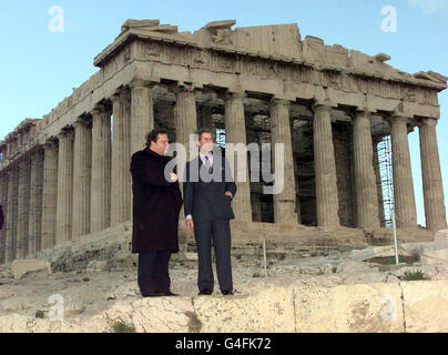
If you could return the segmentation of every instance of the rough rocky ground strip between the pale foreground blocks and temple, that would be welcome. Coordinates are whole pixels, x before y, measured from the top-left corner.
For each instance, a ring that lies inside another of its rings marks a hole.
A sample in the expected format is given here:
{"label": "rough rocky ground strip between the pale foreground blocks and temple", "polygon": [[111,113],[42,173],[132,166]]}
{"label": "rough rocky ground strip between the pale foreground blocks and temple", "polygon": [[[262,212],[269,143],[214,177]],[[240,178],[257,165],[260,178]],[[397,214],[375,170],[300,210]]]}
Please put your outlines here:
{"label": "rough rocky ground strip between the pale foreground blocks and temple", "polygon": [[[268,262],[265,270],[262,261],[233,260],[235,296],[251,295],[269,286],[303,284],[332,287],[348,284],[399,283],[406,274],[419,272],[426,280],[448,280],[448,265],[421,266],[380,265],[354,261],[356,257],[306,257]],[[172,263],[172,291],[184,297],[197,295],[196,262]],[[95,266],[93,264],[93,266]],[[30,318],[49,316],[49,297],[61,295],[64,317],[89,318],[104,312],[118,302],[142,298],[136,283],[136,267],[108,270],[100,268],[52,275],[29,274],[12,278],[9,270],[0,274],[0,317],[23,315]],[[215,297],[223,297],[215,286]]]}

